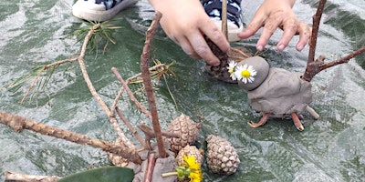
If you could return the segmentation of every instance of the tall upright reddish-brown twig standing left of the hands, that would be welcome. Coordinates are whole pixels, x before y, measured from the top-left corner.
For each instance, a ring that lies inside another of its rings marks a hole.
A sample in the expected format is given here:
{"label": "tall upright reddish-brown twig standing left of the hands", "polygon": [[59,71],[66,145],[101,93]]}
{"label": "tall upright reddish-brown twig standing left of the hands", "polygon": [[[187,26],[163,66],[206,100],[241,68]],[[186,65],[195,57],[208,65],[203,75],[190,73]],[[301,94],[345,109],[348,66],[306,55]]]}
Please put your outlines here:
{"label": "tall upright reddish-brown twig standing left of the hands", "polygon": [[159,123],[159,116],[157,113],[156,101],[153,93],[153,87],[151,83],[150,71],[149,71],[149,59],[150,59],[150,50],[151,43],[153,40],[153,36],[157,32],[157,28],[159,26],[159,22],[162,18],[162,14],[160,12],[156,12],[156,15],[153,17],[152,23],[146,32],[146,40],[143,46],[143,52],[141,54],[141,73],[143,77],[143,85],[146,89],[147,100],[150,107],[151,117],[152,117],[152,126],[154,133],[156,135],[157,147],[159,149],[160,157],[167,157],[165,147],[162,141],[161,134],[161,126]]}

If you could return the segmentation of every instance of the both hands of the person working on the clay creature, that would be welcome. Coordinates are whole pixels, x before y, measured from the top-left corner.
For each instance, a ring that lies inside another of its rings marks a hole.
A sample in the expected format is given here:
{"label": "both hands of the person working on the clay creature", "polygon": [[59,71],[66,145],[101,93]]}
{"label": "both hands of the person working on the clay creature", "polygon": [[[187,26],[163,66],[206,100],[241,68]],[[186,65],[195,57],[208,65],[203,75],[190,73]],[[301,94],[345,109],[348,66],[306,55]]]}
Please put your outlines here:
{"label": "both hands of the person working on the clay creature", "polygon": [[[230,45],[221,30],[206,15],[203,5],[199,0],[150,0],[156,11],[162,13],[161,25],[165,33],[183,51],[193,58],[203,58],[212,66],[220,64],[206,44],[203,35],[209,37],[215,45],[227,52]],[[296,48],[302,50],[308,43],[310,27],[297,20],[297,16],[291,9],[295,0],[265,0],[257,9],[251,23],[245,30],[238,34],[239,38],[245,39],[263,27],[262,34],[256,44],[256,49],[264,49],[269,38],[279,27],[284,33],[277,43],[278,50],[284,50],[294,35],[299,35]]]}

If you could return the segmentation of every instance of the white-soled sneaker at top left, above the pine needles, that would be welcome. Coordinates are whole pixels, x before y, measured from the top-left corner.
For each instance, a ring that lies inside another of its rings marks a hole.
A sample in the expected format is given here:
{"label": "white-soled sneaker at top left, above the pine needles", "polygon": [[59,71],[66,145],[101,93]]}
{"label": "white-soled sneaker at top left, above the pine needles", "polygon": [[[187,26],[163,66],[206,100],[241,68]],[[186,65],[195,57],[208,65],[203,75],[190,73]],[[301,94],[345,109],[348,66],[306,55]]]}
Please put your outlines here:
{"label": "white-soled sneaker at top left, above the pine needles", "polygon": [[72,5],[72,15],[89,21],[106,21],[138,0],[78,0]]}

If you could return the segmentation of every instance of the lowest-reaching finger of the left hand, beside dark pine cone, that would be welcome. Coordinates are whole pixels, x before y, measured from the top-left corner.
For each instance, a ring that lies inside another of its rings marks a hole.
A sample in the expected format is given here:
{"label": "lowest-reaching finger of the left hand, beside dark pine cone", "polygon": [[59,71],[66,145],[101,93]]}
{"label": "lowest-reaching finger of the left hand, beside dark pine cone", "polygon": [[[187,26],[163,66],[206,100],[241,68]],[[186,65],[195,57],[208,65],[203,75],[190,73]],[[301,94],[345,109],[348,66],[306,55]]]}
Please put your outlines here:
{"label": "lowest-reaching finger of the left hand, beside dark pine cone", "polygon": [[214,56],[202,34],[194,34],[189,38],[190,43],[193,45],[193,50],[198,56],[202,57],[203,60],[211,66],[219,66],[220,60],[218,57]]}

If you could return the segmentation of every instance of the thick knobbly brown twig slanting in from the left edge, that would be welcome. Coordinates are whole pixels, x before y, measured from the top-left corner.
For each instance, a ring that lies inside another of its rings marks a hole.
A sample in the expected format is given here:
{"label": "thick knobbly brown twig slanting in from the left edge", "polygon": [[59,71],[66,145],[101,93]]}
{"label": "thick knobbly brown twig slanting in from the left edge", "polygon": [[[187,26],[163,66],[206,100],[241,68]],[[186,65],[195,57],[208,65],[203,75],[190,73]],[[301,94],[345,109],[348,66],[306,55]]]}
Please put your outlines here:
{"label": "thick knobbly brown twig slanting in from the left edge", "polygon": [[137,151],[134,148],[126,146],[125,143],[122,143],[124,145],[117,146],[108,141],[91,139],[89,136],[60,129],[55,126],[47,126],[43,123],[38,123],[36,121],[27,119],[26,117],[23,116],[16,116],[1,111],[0,111],[0,122],[6,126],[10,126],[17,132],[21,132],[24,129],[29,129],[42,135],[54,136],[77,144],[99,147],[104,151],[116,154],[120,157],[128,158],[132,162],[141,164],[141,158],[137,154]]}

